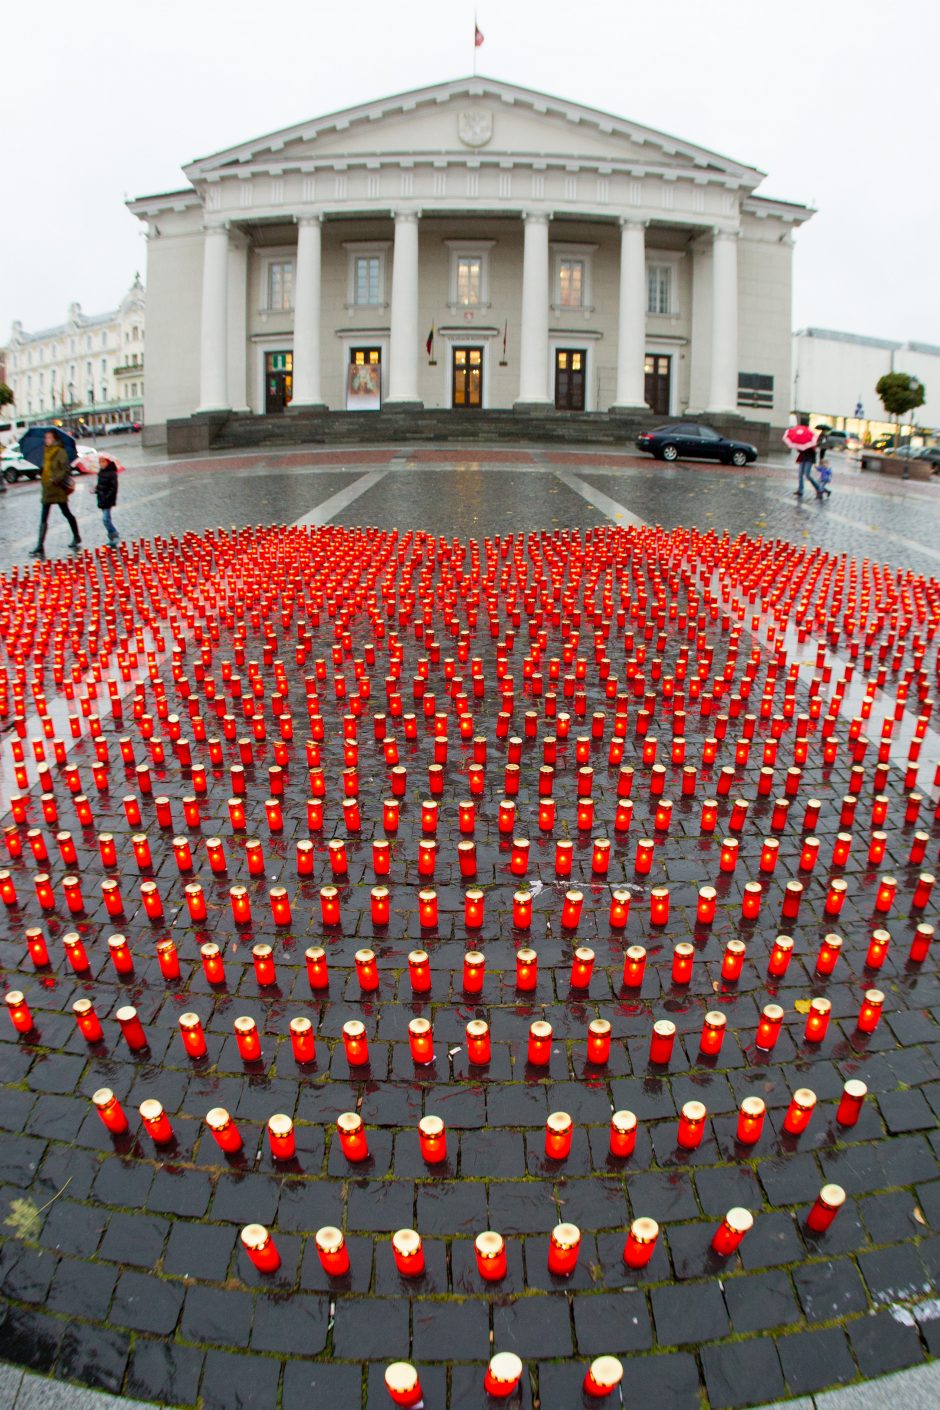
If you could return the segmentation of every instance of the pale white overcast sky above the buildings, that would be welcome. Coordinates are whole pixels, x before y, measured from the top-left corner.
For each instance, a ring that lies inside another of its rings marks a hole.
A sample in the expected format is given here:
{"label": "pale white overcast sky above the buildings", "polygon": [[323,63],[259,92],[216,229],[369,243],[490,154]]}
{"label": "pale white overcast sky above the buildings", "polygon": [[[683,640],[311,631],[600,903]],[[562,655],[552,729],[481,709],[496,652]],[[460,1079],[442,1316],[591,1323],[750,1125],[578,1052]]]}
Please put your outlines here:
{"label": "pale white overcast sky above the buildings", "polygon": [[[261,133],[461,78],[468,0],[44,0],[0,18],[0,340],[114,307],[128,196]],[[940,344],[939,0],[500,0],[479,72],[758,166],[810,203],[793,326]]]}

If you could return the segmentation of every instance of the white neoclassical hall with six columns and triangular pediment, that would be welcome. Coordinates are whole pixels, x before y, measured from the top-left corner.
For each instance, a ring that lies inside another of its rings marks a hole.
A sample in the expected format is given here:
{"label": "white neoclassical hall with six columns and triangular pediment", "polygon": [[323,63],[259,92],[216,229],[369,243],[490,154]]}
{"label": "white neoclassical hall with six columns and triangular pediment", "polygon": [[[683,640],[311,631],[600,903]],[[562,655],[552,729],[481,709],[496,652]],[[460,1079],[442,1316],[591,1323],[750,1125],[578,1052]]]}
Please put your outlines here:
{"label": "white neoclassical hall with six columns and triangular pediment", "polygon": [[148,227],[145,422],[290,409],[791,406],[793,231],[764,173],[485,78],[185,168]]}

